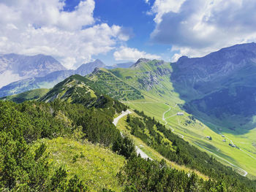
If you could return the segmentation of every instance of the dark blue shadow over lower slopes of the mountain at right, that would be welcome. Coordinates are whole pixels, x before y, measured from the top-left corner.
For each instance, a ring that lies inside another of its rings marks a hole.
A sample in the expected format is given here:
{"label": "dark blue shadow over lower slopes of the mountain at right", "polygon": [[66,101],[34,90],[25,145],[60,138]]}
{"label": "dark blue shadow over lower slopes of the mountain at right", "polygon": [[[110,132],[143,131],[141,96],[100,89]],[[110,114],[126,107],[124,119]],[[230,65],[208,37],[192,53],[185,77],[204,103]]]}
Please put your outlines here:
{"label": "dark blue shadow over lower slopes of the mountain at right", "polygon": [[[208,125],[217,134],[246,134],[256,127],[256,88],[235,86],[209,90],[211,82],[192,82],[173,67],[170,77],[174,91],[185,104],[181,107]],[[206,89],[203,89],[206,86]]]}

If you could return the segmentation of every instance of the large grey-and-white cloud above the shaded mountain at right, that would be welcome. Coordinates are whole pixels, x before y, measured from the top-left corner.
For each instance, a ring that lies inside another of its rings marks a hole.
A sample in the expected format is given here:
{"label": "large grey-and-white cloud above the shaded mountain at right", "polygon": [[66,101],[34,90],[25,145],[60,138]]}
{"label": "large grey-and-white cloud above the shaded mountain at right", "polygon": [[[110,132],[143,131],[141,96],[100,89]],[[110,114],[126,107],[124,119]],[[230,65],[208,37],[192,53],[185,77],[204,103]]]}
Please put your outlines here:
{"label": "large grey-and-white cloud above the shaded mountain at right", "polygon": [[[169,7],[167,4],[172,4]],[[256,1],[156,0],[154,42],[180,55],[202,56],[222,47],[256,41]]]}

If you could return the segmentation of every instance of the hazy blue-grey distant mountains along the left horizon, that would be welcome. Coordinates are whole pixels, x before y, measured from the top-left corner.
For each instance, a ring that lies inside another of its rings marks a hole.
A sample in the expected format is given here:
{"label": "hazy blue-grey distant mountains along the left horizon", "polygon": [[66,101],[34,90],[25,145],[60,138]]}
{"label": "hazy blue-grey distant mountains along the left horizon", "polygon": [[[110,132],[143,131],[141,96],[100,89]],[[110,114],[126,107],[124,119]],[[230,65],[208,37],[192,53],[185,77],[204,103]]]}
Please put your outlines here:
{"label": "hazy blue-grey distant mountains along the left horizon", "polygon": [[1,85],[4,86],[0,88],[0,97],[23,93],[35,88],[52,88],[53,85],[72,74],[84,76],[93,72],[96,67],[106,69],[126,68],[132,64],[124,63],[106,66],[97,59],[72,70],[66,69],[59,61],[48,55],[26,56],[13,53],[1,55],[0,77],[3,79]]}

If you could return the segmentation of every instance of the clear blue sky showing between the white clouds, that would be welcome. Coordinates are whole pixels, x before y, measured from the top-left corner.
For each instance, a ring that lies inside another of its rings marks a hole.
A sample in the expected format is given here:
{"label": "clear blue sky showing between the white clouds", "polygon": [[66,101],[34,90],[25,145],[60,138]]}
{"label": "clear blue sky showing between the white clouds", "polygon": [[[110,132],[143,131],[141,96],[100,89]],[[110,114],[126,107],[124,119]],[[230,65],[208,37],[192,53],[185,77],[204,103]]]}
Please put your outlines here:
{"label": "clear blue sky showing between the white clouds", "polygon": [[[79,0],[68,0],[64,9],[73,11],[79,4]],[[154,1],[151,1],[154,2]],[[148,15],[151,3],[148,1],[121,1],[121,0],[96,0],[94,8],[94,18],[97,23],[108,23],[108,25],[118,25],[124,28],[124,32],[129,34],[130,39],[124,44],[127,47],[136,47],[146,53],[161,55],[162,59],[170,60],[170,45],[162,45],[151,42],[150,35],[154,31],[154,15]],[[100,54],[96,57],[111,65],[118,63],[113,57],[114,50],[110,53]],[[95,58],[96,58],[95,57]],[[122,62],[122,61],[120,61]]]}

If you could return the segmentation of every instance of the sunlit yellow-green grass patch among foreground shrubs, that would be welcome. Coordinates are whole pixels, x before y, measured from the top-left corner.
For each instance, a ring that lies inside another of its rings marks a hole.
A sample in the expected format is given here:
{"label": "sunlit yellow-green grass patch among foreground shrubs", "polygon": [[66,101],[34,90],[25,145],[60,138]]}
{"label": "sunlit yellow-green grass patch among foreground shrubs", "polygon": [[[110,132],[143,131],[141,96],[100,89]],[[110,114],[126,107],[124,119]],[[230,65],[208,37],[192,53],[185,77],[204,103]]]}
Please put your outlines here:
{"label": "sunlit yellow-green grass patch among foreground shrubs", "polygon": [[41,139],[47,145],[50,163],[59,168],[63,166],[68,177],[77,174],[89,186],[89,191],[100,191],[108,188],[121,191],[116,174],[124,166],[125,158],[111,150],[90,142],[78,142],[59,137],[56,139]]}

